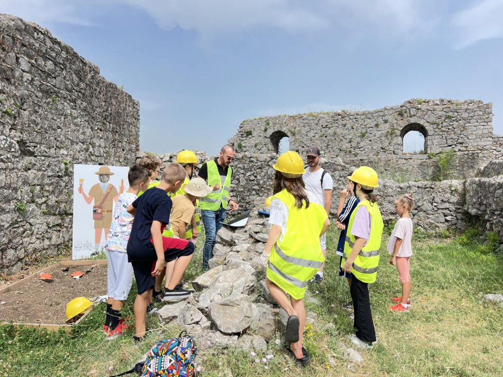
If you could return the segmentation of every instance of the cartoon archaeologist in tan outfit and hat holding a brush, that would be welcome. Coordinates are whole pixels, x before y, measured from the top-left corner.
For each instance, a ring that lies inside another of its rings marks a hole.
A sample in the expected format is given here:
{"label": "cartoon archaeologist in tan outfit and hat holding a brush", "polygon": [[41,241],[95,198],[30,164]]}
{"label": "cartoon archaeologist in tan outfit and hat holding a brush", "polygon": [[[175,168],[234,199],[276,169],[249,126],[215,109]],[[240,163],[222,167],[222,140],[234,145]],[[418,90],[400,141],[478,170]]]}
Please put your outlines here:
{"label": "cartoon archaeologist in tan outfit and hat holding a brush", "polygon": [[110,175],[114,174],[110,171],[108,166],[100,166],[100,169],[95,174],[98,175],[100,183],[96,183],[91,187],[89,194],[86,195],[82,188],[83,179],[80,179],[78,193],[82,194],[87,204],[91,204],[94,199],[93,220],[95,222],[95,247],[96,250],[99,250],[101,234],[105,231],[106,239],[108,231],[110,230],[110,225],[112,224],[114,202],[117,202],[119,195],[124,192],[124,183],[121,181],[119,192],[117,192],[113,184],[107,183],[110,180]]}

